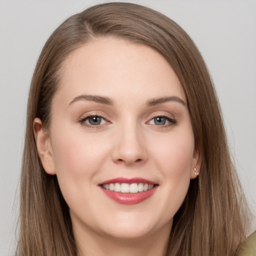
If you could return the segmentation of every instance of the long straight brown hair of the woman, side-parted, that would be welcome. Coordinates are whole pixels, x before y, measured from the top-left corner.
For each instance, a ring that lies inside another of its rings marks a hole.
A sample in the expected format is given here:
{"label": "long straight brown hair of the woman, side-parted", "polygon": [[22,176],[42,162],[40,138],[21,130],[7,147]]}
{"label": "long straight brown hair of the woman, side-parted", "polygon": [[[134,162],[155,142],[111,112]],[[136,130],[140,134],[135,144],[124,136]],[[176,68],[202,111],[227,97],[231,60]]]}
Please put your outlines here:
{"label": "long straight brown hair of the woman, side-parted", "polygon": [[176,72],[186,94],[200,175],[173,219],[166,255],[235,255],[245,237],[246,203],[232,165],[216,93],[206,65],[191,38],[168,17],[132,3],[104,3],[67,18],[46,41],[37,61],[27,105],[20,185],[20,235],[17,254],[77,255],[68,206],[55,175],[40,163],[32,122],[50,124],[50,108],[66,57],[100,36],[148,45]]}

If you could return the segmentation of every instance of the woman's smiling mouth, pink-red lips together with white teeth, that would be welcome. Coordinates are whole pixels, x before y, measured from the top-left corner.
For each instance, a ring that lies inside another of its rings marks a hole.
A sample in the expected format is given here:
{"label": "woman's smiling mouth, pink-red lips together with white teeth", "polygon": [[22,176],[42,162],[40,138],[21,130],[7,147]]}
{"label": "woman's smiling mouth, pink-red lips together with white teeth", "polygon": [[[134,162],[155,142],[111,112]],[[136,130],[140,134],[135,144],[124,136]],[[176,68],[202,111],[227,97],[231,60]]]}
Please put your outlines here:
{"label": "woman's smiling mouth, pink-red lips together with white teeth", "polygon": [[157,183],[143,178],[115,178],[98,184],[105,195],[117,203],[137,204],[150,197]]}

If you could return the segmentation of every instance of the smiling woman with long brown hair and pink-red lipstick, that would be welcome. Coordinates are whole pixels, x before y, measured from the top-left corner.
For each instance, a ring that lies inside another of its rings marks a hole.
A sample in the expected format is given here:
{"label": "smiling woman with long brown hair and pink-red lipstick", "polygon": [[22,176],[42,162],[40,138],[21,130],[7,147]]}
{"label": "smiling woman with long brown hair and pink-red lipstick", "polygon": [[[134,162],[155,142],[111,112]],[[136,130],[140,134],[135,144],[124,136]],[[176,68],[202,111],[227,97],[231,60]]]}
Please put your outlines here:
{"label": "smiling woman with long brown hair and pink-red lipstick", "polygon": [[20,203],[21,255],[235,255],[246,205],[207,68],[175,22],[106,3],[52,33]]}

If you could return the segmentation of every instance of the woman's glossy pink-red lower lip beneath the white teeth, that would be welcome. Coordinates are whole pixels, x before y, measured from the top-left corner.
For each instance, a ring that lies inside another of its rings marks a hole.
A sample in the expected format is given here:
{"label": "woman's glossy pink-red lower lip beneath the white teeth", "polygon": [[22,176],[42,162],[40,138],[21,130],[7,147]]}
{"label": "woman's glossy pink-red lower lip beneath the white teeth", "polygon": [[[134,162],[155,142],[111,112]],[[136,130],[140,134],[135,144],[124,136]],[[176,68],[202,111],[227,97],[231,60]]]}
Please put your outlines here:
{"label": "woman's glossy pink-red lower lip beneath the white teeth", "polygon": [[150,197],[156,190],[158,186],[155,185],[153,188],[147,190],[147,191],[142,191],[142,192],[137,192],[137,193],[121,193],[121,192],[115,192],[115,191],[110,191],[107,189],[104,189],[103,187],[100,186],[102,191],[112,200],[115,202],[121,203],[121,204],[137,204],[148,197]]}

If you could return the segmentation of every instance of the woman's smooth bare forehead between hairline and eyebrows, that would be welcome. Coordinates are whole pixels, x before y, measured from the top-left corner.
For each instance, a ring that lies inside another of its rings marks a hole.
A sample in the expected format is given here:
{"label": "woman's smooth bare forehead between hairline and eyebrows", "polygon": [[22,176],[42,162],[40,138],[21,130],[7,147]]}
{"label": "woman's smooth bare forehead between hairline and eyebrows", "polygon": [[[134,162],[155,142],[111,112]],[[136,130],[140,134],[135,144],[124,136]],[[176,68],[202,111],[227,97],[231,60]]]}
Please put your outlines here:
{"label": "woman's smooth bare forehead between hairline and eyebrows", "polygon": [[55,95],[61,101],[79,94],[113,99],[133,95],[134,100],[176,95],[186,101],[167,60],[149,46],[124,39],[104,37],[80,46],[64,61],[62,73]]}

